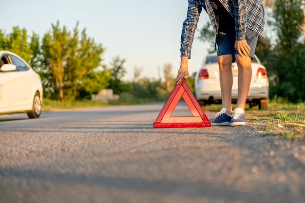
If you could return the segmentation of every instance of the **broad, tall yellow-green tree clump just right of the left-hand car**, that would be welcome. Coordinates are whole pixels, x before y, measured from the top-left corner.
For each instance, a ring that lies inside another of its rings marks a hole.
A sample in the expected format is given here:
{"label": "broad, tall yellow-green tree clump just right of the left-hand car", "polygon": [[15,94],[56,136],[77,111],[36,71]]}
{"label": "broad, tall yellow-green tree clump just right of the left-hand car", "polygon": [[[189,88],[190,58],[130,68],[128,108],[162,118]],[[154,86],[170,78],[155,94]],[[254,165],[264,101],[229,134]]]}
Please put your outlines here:
{"label": "broad, tall yellow-green tree clump just right of the left-hand car", "polygon": [[45,65],[41,70],[43,83],[46,90],[52,92],[52,98],[81,99],[107,87],[110,75],[101,66],[103,52],[102,45],[87,37],[85,29],[79,36],[78,23],[73,33],[66,26],[61,28],[58,21],[56,25],[52,24],[52,30],[42,41],[42,63]]}

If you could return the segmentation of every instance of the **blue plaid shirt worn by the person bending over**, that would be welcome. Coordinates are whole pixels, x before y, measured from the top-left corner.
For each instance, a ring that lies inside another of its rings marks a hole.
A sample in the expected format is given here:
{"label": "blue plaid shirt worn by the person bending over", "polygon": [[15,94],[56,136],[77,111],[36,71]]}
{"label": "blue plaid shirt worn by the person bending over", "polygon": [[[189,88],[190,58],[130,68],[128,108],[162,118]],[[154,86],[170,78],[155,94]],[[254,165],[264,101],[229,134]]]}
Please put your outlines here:
{"label": "blue plaid shirt worn by the person bending over", "polygon": [[[235,38],[244,40],[246,28],[262,35],[264,30],[264,7],[261,0],[219,0],[235,19]],[[191,45],[202,8],[208,13],[215,36],[218,34],[218,17],[215,16],[210,0],[189,0],[187,19],[181,34],[181,56],[191,58]]]}

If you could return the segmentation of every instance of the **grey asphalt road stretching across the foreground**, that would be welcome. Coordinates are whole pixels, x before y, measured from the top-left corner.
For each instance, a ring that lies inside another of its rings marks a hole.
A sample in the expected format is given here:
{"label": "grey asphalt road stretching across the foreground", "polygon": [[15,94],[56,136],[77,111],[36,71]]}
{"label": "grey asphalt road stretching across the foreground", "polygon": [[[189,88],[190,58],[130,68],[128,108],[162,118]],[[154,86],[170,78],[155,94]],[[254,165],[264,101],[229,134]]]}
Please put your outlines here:
{"label": "grey asphalt road stretching across the foreground", "polygon": [[305,203],[305,142],[257,121],[154,129],[162,107],[1,115],[0,203]]}

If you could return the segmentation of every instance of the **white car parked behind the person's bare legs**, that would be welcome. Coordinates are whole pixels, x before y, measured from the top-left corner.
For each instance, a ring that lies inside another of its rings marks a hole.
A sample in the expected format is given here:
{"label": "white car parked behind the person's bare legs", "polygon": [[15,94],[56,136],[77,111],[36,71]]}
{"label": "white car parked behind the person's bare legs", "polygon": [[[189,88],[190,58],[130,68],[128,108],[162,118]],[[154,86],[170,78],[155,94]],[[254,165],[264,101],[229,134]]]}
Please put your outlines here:
{"label": "white car parked behind the person's bare legs", "polygon": [[[266,67],[255,55],[252,62],[252,78],[247,97],[249,107],[259,106],[259,109],[267,109],[269,103],[269,82]],[[196,99],[202,109],[206,105],[221,103],[221,90],[219,82],[219,66],[217,53],[209,54],[205,57],[199,72],[195,73]],[[233,86],[232,103],[237,102],[238,89],[238,68],[232,63]]]}

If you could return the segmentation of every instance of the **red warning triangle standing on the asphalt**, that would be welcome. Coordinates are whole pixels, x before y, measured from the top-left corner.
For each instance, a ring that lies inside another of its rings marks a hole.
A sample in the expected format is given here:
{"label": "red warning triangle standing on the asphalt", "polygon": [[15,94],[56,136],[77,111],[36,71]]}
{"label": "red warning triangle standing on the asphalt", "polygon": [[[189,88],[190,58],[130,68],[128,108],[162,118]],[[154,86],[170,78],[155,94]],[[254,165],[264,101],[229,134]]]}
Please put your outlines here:
{"label": "red warning triangle standing on the asphalt", "polygon": [[[180,98],[183,97],[193,116],[171,117]],[[202,111],[188,84],[183,81],[175,86],[170,97],[153,123],[154,128],[210,127],[210,121]]]}

